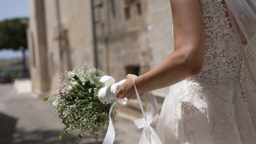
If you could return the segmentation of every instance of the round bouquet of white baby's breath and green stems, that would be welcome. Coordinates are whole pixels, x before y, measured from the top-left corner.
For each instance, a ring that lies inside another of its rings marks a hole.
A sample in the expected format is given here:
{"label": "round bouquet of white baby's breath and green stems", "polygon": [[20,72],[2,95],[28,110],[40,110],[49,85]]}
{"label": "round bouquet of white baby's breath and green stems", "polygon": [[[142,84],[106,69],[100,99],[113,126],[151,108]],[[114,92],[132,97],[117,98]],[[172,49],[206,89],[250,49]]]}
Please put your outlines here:
{"label": "round bouquet of white baby's breath and green stems", "polygon": [[[44,101],[51,102],[52,112],[62,119],[64,128],[59,140],[70,131],[79,134],[79,142],[83,136],[92,136],[97,141],[99,133],[109,123],[107,115],[111,105],[103,104],[98,99],[98,91],[104,87],[104,83],[100,82],[103,73],[96,68],[86,70],[86,67],[84,64],[80,70],[74,68],[65,75],[62,74],[58,95],[43,98]],[[116,112],[111,113],[114,124],[117,122],[115,116]]]}

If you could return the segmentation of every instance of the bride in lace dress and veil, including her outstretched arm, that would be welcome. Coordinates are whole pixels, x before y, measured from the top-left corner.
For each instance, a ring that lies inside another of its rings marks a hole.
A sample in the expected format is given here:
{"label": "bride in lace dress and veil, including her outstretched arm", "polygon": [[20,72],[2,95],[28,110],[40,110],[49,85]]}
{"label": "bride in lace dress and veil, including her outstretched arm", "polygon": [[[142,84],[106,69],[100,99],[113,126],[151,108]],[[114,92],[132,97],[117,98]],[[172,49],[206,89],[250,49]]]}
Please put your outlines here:
{"label": "bride in lace dress and veil, including her outstretched arm", "polygon": [[255,0],[170,0],[174,51],[118,98],[171,86],[155,128],[162,143],[256,143]]}

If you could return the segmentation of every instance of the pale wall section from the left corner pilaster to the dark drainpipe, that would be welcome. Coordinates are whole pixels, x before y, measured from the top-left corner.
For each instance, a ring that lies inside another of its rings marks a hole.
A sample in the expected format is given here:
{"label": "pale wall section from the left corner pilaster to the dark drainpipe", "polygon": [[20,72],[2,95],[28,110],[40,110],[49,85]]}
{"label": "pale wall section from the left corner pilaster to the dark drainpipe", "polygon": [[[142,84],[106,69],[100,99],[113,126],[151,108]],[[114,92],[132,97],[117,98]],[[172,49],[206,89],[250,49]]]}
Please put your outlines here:
{"label": "pale wall section from the left corner pilaster to the dark drainpipe", "polygon": [[[53,0],[45,0],[44,4],[50,89],[56,90],[61,73],[72,70],[73,67],[81,67],[83,63],[89,67],[94,66],[91,8],[88,0],[59,0],[58,4]],[[59,40],[54,38],[54,27],[58,23],[65,31],[64,37]]]}

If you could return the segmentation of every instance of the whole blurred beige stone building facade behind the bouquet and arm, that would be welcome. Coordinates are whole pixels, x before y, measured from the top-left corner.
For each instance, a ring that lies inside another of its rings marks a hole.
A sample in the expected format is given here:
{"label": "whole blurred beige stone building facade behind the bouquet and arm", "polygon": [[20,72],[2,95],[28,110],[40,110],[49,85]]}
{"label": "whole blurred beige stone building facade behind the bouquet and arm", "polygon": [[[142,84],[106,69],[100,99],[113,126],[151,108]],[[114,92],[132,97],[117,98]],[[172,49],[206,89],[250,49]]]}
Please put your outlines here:
{"label": "whole blurred beige stone building facade behind the bouquet and arm", "polygon": [[[144,74],[173,50],[168,0],[30,0],[28,41],[35,92],[56,92],[59,75],[83,63],[116,81]],[[97,51],[93,43],[93,25]],[[95,53],[97,52],[97,53]],[[164,95],[168,88],[155,91]]]}

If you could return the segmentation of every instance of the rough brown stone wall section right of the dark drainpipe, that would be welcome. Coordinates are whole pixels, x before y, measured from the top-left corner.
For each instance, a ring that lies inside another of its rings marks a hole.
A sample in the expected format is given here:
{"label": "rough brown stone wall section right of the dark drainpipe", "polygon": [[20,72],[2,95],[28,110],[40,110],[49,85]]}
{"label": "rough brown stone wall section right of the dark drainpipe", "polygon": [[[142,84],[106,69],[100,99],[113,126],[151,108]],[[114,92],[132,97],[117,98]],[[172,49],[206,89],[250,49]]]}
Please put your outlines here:
{"label": "rough brown stone wall section right of the dark drainpipe", "polygon": [[125,78],[129,67],[139,67],[139,75],[150,70],[148,5],[148,0],[95,1],[100,68],[117,81]]}

